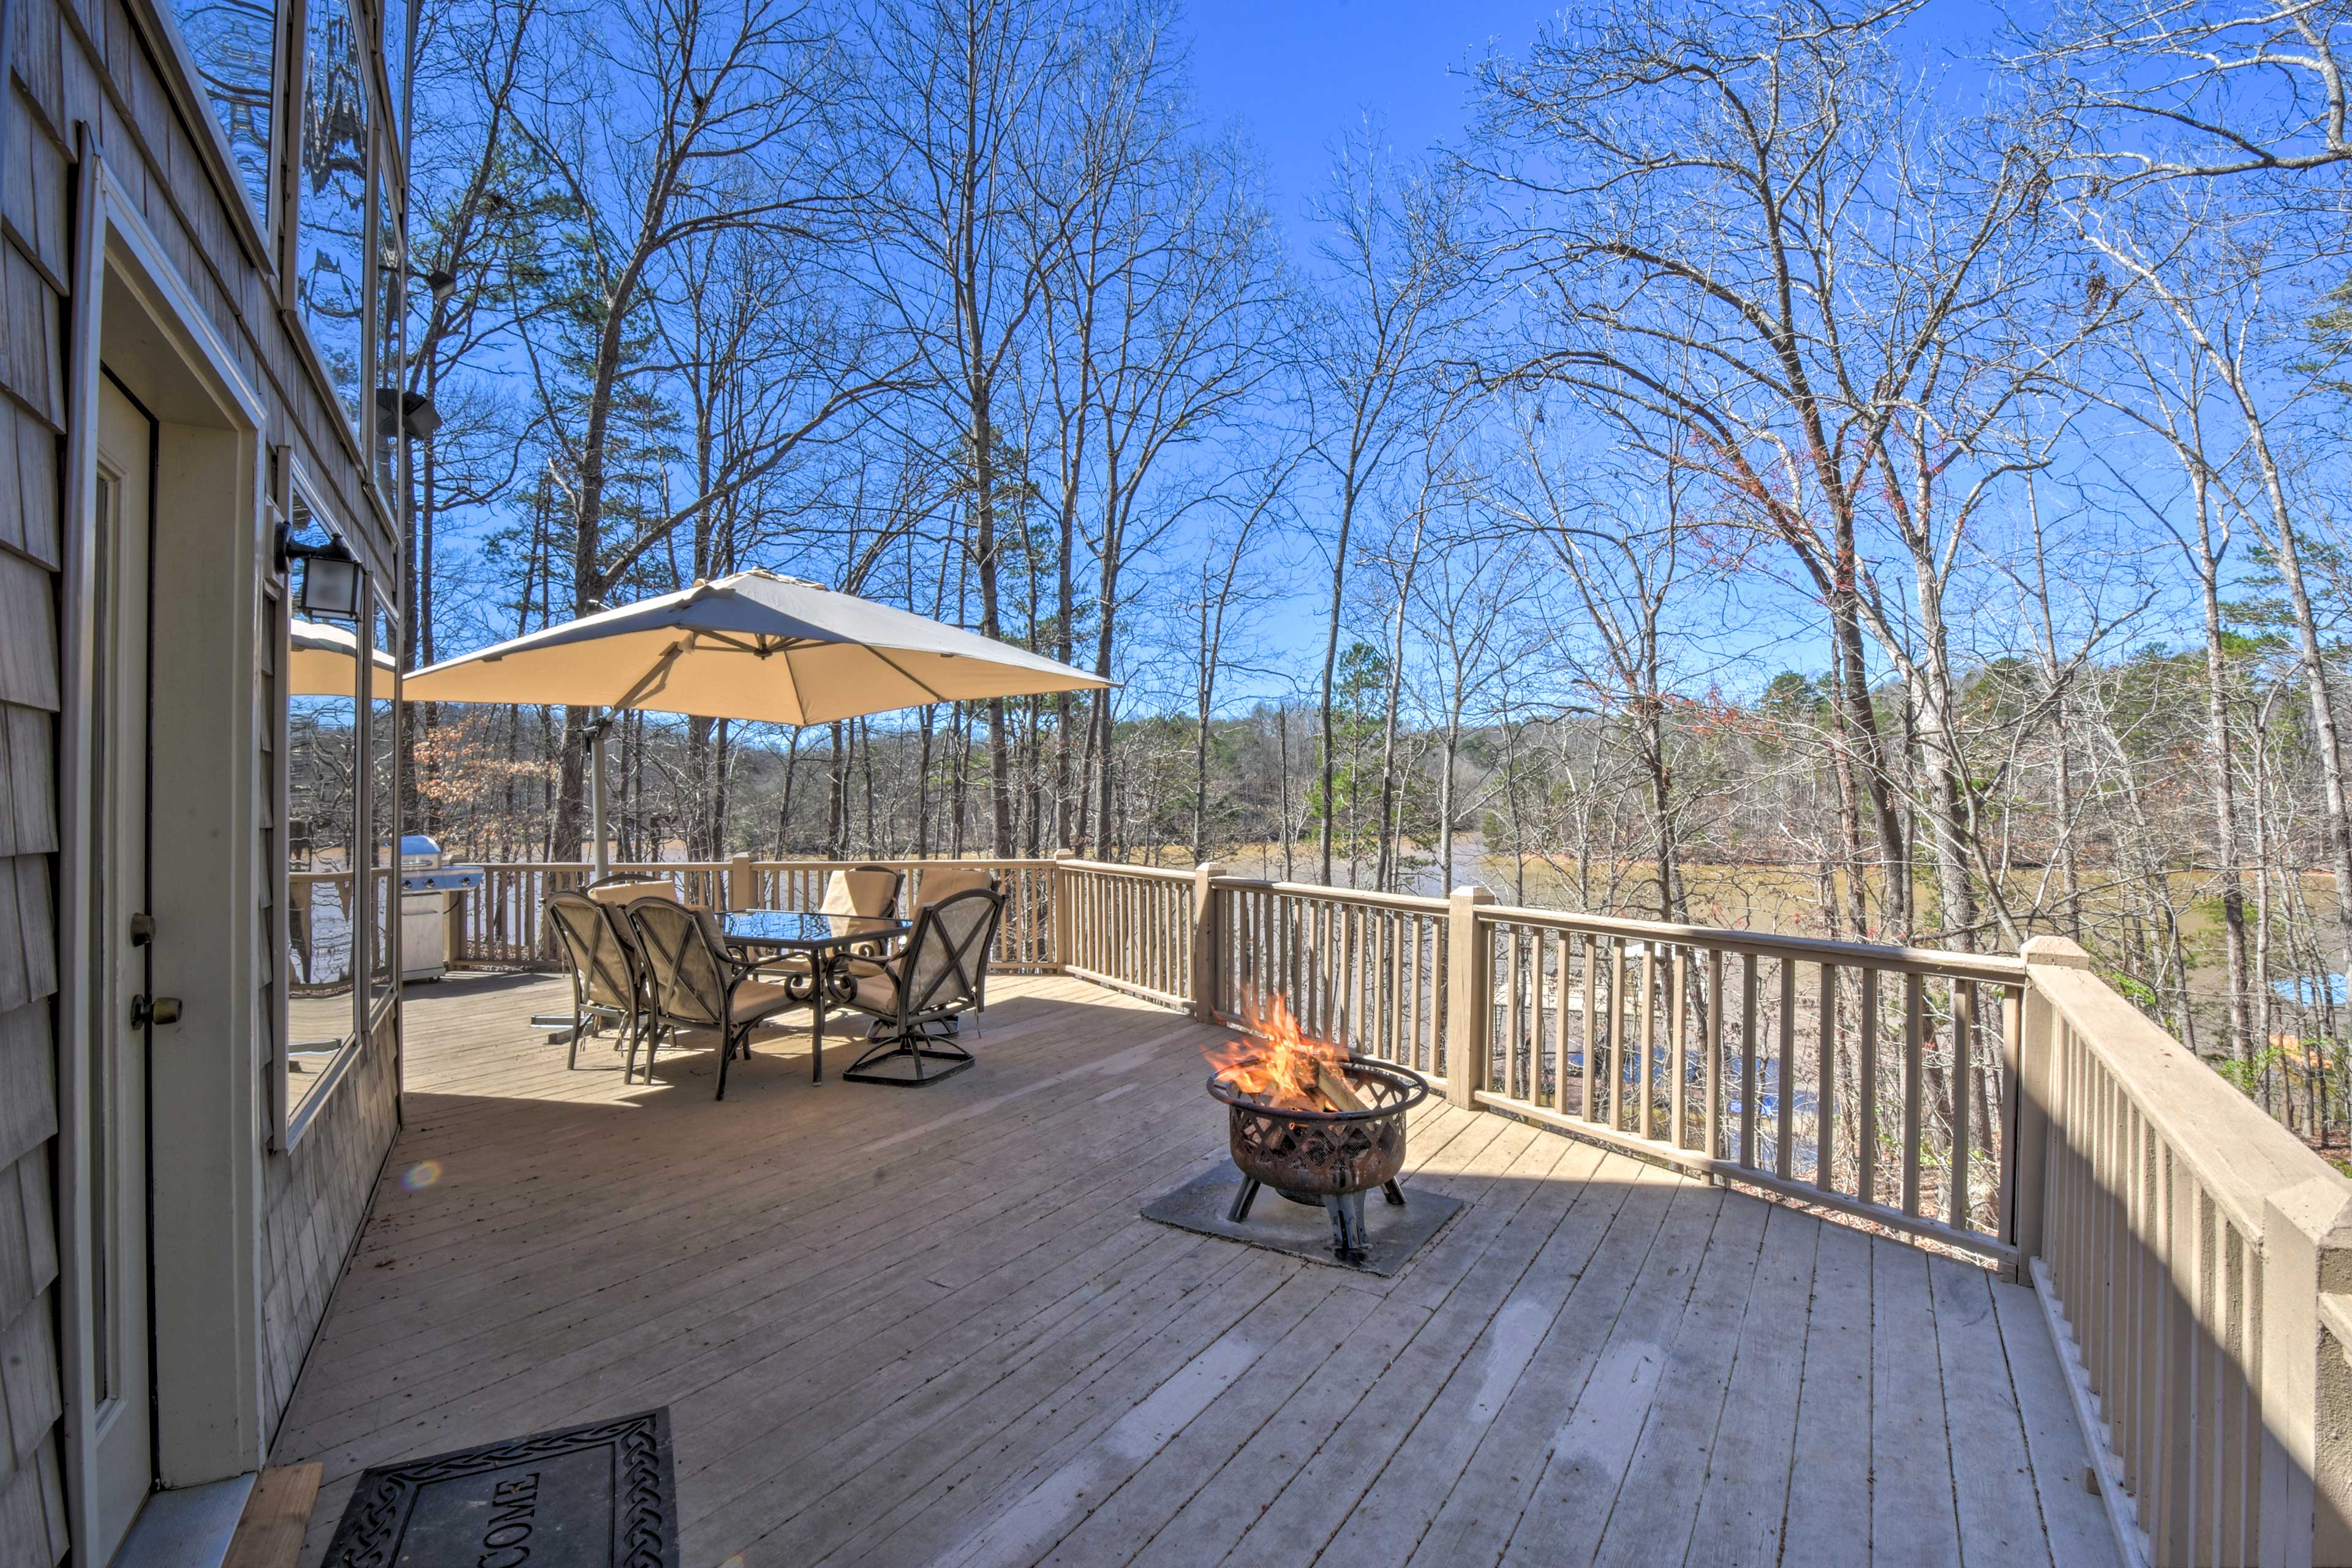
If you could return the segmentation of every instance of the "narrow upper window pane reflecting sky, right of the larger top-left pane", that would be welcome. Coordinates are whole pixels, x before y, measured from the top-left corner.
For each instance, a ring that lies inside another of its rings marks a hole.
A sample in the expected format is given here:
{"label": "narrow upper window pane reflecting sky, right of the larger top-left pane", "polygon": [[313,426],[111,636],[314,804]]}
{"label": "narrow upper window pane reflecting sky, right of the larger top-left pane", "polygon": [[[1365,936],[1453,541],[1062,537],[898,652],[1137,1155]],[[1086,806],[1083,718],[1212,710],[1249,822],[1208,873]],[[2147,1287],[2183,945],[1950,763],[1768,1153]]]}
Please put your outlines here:
{"label": "narrow upper window pane reflecting sky, right of the larger top-left pane", "polygon": [[367,75],[348,0],[313,0],[301,94],[301,226],[294,287],[303,324],[360,428],[367,353]]}

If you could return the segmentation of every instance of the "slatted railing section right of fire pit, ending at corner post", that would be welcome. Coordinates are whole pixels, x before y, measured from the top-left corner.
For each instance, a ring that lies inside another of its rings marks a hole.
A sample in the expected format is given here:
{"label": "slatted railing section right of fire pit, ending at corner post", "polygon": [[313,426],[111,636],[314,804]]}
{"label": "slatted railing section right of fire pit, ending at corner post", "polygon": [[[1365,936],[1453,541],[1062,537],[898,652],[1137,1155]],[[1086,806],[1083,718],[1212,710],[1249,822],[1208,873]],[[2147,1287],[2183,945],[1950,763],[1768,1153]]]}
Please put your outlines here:
{"label": "slatted railing section right of fire pit, ending at corner post", "polygon": [[2016,1267],[2025,964],[1508,910],[1454,1098]]}

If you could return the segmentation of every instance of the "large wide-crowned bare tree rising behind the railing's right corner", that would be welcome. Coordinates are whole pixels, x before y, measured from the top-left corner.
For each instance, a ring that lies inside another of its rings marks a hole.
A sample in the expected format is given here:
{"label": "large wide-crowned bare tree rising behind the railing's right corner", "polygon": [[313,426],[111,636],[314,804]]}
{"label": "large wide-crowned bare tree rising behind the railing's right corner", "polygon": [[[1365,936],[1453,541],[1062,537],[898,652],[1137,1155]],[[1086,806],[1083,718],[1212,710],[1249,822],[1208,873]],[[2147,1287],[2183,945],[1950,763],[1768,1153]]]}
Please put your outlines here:
{"label": "large wide-crowned bare tree rising behind the railing's right corner", "polygon": [[[2002,263],[2046,181],[2020,139],[1950,153],[1889,52],[1898,19],[1708,2],[1573,24],[1524,66],[1489,66],[1486,146],[1526,207],[1503,256],[1552,339],[1498,371],[1675,430],[1679,461],[1788,548],[1830,618],[1856,929],[1867,827],[1882,929],[1907,933],[1907,813],[1865,632],[1896,663],[1910,639],[1870,583],[1870,529],[1891,524],[1919,590],[1940,590],[1999,465],[1971,463],[1952,501],[1945,470],[1983,456],[1971,442],[2027,374],[1973,388],[1969,371],[1999,355],[1971,339],[2016,282]],[[1922,150],[1943,153],[1936,179]],[[1962,905],[1945,924],[1966,929],[1943,668],[1931,632],[1929,663],[1907,677],[1933,710],[1931,820],[1945,898]]]}

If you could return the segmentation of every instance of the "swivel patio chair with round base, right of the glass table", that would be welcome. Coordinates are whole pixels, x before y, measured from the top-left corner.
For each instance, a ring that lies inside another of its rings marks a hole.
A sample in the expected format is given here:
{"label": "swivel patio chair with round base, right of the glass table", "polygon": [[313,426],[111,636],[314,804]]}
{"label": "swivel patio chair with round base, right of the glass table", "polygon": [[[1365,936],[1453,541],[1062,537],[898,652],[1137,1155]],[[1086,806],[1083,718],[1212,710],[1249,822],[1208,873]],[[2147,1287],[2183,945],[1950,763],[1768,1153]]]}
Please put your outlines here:
{"label": "swivel patio chair with round base, right of the glass table", "polygon": [[[976,886],[924,903],[906,947],[854,976],[849,1006],[873,1013],[866,1053],[842,1079],[922,1088],[971,1065],[955,1023],[988,1001],[988,945],[1004,898]],[[948,1063],[941,1070],[927,1063]]]}

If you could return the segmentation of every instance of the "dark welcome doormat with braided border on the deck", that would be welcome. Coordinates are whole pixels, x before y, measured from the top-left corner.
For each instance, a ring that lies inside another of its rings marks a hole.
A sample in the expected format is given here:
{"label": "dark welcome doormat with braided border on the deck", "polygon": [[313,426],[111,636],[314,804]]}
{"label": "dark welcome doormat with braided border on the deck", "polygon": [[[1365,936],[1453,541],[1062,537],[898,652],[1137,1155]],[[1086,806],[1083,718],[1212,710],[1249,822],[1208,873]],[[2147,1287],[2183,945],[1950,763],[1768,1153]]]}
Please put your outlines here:
{"label": "dark welcome doormat with braided border on the deck", "polygon": [[325,1568],[677,1568],[670,1413],[381,1465]]}

